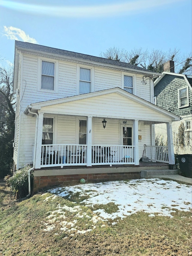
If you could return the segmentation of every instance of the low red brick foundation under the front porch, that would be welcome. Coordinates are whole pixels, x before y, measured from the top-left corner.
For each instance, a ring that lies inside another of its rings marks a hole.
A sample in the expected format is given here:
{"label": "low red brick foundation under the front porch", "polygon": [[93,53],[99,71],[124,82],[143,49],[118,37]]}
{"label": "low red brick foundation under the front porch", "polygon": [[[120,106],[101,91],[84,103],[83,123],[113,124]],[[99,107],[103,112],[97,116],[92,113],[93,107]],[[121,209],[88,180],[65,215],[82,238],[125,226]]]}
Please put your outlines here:
{"label": "low red brick foundation under the front porch", "polygon": [[34,177],[33,191],[38,192],[39,189],[52,186],[64,185],[70,182],[79,182],[80,179],[86,181],[110,181],[118,179],[139,179],[140,172],[132,173],[93,173],[93,174],[69,174],[69,175],[56,175],[56,176],[36,176]]}

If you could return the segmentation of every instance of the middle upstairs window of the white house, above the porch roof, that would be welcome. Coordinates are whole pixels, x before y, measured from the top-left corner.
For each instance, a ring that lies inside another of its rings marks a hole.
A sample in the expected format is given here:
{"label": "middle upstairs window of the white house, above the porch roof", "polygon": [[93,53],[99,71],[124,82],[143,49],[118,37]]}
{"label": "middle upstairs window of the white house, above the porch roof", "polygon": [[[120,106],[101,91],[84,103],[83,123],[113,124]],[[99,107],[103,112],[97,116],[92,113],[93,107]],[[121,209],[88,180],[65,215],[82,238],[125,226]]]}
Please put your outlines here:
{"label": "middle upstairs window of the white house, above the porch roof", "polygon": [[79,93],[84,94],[91,92],[91,69],[80,68],[79,72]]}

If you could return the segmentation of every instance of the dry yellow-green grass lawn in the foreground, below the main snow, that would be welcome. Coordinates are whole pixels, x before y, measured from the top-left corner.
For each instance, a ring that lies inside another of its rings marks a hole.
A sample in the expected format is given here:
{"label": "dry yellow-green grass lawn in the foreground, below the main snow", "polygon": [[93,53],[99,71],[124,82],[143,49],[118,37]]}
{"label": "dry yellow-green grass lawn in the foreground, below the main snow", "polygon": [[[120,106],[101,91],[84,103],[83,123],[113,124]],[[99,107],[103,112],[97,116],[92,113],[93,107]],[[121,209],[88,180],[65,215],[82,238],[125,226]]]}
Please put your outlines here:
{"label": "dry yellow-green grass lawn in the foreground, below the main snow", "polygon": [[93,211],[111,214],[116,204],[90,207],[79,201],[78,193],[67,199],[47,191],[11,200],[0,182],[0,255],[192,255],[190,211],[174,209],[173,218],[140,211],[116,218],[113,225],[114,220],[95,218]]}

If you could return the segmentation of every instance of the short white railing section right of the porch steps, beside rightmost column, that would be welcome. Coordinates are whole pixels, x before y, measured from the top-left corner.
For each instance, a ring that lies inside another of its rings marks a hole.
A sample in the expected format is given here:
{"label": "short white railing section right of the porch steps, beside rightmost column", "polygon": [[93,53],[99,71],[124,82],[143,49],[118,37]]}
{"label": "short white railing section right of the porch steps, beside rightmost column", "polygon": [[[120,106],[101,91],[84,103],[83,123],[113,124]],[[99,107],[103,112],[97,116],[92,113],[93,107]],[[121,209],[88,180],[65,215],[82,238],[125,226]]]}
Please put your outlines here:
{"label": "short white railing section right of the porch steps, beside rightmost column", "polygon": [[168,147],[144,145],[144,148],[145,155],[149,158],[150,161],[169,163]]}

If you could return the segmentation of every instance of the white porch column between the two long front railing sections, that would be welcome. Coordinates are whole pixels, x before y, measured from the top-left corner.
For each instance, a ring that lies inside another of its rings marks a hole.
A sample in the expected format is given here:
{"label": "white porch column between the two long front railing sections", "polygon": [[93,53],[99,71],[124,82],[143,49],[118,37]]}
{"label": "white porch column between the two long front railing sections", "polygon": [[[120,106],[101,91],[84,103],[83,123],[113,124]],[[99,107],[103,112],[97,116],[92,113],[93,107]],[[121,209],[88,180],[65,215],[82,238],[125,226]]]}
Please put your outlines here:
{"label": "white porch column between the two long front railing sections", "polygon": [[92,165],[92,116],[87,117],[87,152],[86,161],[87,166]]}

